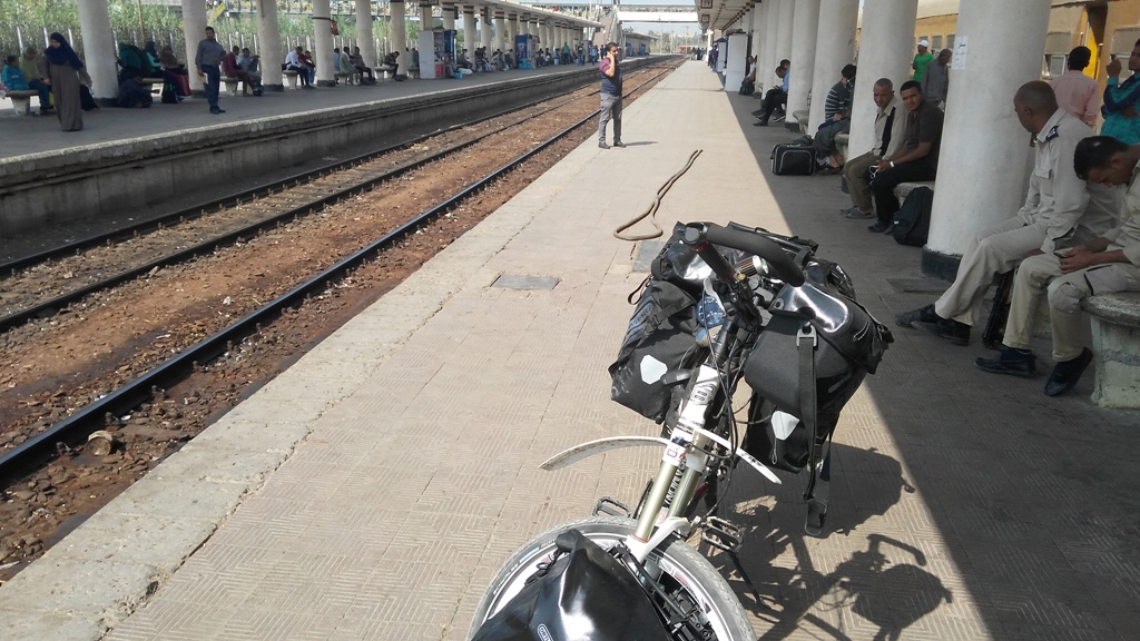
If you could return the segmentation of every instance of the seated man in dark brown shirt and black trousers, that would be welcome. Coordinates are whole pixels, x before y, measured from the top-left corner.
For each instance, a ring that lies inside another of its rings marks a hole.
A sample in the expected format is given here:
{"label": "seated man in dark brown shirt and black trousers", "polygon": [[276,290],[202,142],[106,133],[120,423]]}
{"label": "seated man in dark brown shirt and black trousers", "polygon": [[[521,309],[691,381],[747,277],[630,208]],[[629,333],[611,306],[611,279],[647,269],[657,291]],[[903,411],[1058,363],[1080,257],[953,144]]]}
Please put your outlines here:
{"label": "seated man in dark brown shirt and black trousers", "polygon": [[[890,222],[898,212],[895,187],[903,182],[934,180],[938,170],[938,147],[942,146],[942,109],[922,99],[919,83],[907,80],[898,94],[906,107],[906,133],[903,146],[887,154],[874,165],[871,192],[874,194],[876,213],[879,221],[868,227],[869,232],[881,234],[890,229]],[[1052,96],[1052,91],[1049,92]],[[1051,112],[1050,112],[1051,113]]]}

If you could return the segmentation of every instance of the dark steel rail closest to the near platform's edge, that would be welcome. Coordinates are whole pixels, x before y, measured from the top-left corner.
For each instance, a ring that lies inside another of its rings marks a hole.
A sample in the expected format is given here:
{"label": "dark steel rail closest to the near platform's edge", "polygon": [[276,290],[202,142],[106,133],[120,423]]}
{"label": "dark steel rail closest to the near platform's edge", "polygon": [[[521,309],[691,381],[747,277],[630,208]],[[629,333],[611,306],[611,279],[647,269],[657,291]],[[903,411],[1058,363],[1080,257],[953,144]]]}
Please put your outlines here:
{"label": "dark steel rail closest to the near platform's edge", "polygon": [[[652,80],[653,79],[629,90],[626,95],[633,94],[641,87],[652,82]],[[44,431],[30,438],[10,452],[0,454],[0,480],[7,481],[8,479],[18,476],[18,470],[30,465],[35,460],[57,453],[57,444],[68,441],[74,443],[75,440],[79,440],[80,437],[84,437],[92,431],[105,427],[107,416],[117,416],[131,412],[140,404],[153,398],[155,390],[169,389],[173,384],[185,380],[199,364],[209,363],[219,355],[225,354],[228,349],[230,349],[231,344],[237,343],[242,339],[258,332],[261,325],[272,322],[274,319],[280,317],[280,315],[287,309],[304,302],[304,299],[308,295],[323,291],[332,282],[343,277],[349,270],[360,266],[367,259],[386,250],[394,243],[401,241],[404,237],[414,234],[421,226],[429,224],[435,218],[450,211],[467,197],[481,192],[489,184],[494,182],[508,171],[534,157],[536,154],[546,149],[557,140],[570,135],[570,132],[575,129],[578,129],[579,127],[594,120],[600,111],[601,109],[595,109],[592,114],[563,129],[561,132],[543,141],[534,149],[526,152],[503,167],[491,171],[450,198],[424,212],[421,212],[418,216],[405,222],[384,237],[360,249],[352,255],[349,255],[336,265],[325,269],[317,276],[314,276],[304,283],[293,287],[277,299],[243,316],[213,335],[188,347],[162,365],[152,368],[133,381],[130,381],[119,389],[92,401],[63,421],[52,424]]]}

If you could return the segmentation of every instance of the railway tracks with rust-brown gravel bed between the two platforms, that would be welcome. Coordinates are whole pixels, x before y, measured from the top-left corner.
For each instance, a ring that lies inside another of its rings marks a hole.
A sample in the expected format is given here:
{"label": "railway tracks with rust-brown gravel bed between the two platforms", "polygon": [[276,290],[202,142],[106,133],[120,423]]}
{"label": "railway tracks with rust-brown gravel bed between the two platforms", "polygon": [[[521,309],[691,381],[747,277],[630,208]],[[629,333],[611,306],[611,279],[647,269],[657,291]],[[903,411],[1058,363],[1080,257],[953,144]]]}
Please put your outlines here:
{"label": "railway tracks with rust-brown gravel bed between the two platforms", "polygon": [[[627,96],[675,66],[630,73]],[[93,279],[76,271],[92,252],[137,259],[98,278],[116,283],[66,307],[47,299],[60,307],[0,333],[10,363],[0,374],[0,581],[6,563],[34,558],[64,520],[97,509],[591,137],[596,96],[578,94],[267,190],[229,214],[17,268]],[[192,243],[220,221],[223,233]],[[144,249],[146,236],[160,241]],[[2,282],[6,294],[16,279]],[[96,430],[112,435],[111,453],[84,449]]]}

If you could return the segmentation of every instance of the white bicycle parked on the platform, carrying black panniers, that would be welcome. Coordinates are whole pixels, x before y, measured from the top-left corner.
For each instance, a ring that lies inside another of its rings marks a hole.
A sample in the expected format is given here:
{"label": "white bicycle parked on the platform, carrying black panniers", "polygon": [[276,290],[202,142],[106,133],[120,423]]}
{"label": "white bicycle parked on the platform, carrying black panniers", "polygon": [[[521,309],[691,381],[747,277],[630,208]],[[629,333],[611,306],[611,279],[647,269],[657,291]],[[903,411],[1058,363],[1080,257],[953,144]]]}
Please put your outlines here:
{"label": "white bicycle parked on the platform, carrying black panniers", "polygon": [[[717,245],[730,250],[728,255],[734,258],[734,263],[722,254]],[[679,358],[671,358],[663,356],[660,344],[654,343],[657,356],[676,360],[674,365],[678,366],[666,368],[665,364],[660,364],[653,368],[650,381],[646,381],[646,389],[651,391],[645,393],[652,395],[648,400],[618,398],[632,383],[619,383],[618,376],[614,378],[616,399],[649,417],[663,419],[662,436],[597,439],[559,453],[540,465],[544,470],[555,470],[602,452],[651,446],[663,448],[658,473],[649,482],[634,510],[612,497],[602,497],[592,517],[552,528],[523,545],[491,581],[477,606],[469,639],[481,639],[480,630],[486,630],[484,624],[507,608],[512,600],[522,598],[528,584],[535,582],[534,577],[552,574],[552,568],[557,567],[559,560],[565,558],[569,551],[564,543],[560,545],[557,542],[559,536],[568,530],[579,532],[622,563],[644,590],[670,639],[756,639],[748,615],[731,586],[686,539],[700,532],[703,542],[728,552],[738,570],[748,581],[735,559],[742,538],[740,528],[716,516],[718,496],[722,494],[719,488],[722,484],[731,482],[739,461],[746,462],[772,482],[781,481],[765,463],[738,446],[741,433],[732,408],[733,393],[740,379],[746,378],[757,392],[750,404],[752,411],[749,420],[752,421],[757,408],[767,407],[767,414],[758,423],[767,421],[764,424],[771,424],[775,420],[787,424],[790,414],[774,407],[787,408],[789,405],[783,398],[787,396],[785,390],[780,389],[787,388],[788,381],[777,381],[775,387],[757,386],[748,372],[756,368],[751,364],[758,352],[771,352],[772,346],[782,340],[772,339],[765,346],[762,338],[767,334],[787,338],[790,323],[791,339],[805,347],[803,350],[798,347],[792,349],[800,355],[811,354],[814,364],[817,358],[815,352],[822,342],[820,334],[828,334],[842,326],[852,316],[849,308],[842,305],[839,306],[842,309],[836,308],[837,301],[842,303],[842,300],[829,293],[825,285],[846,289],[852,294],[854,287],[837,266],[834,269],[821,270],[821,263],[814,259],[815,244],[811,241],[779,236],[763,229],[739,225],[719,227],[710,224],[678,224],[674,242],[662,252],[659,261],[667,257],[670,248],[674,254],[682,254],[682,261],[690,261],[682,266],[671,265],[674,274],[691,274],[694,270],[699,274],[699,278],[691,278],[689,282],[689,293],[693,294],[690,300],[695,299],[693,316],[698,322],[694,327],[684,322],[678,323],[683,326],[675,327],[679,336],[676,342],[682,346],[687,342],[691,349],[685,349]],[[809,281],[806,281],[804,267],[808,268]],[[663,278],[663,273],[669,270],[667,267],[654,268],[654,276]],[[624,342],[624,354],[632,334],[635,338],[644,334],[645,326],[650,326],[650,333],[659,331],[662,324],[667,324],[667,319],[684,316],[677,314],[676,305],[670,303],[668,295],[661,293],[668,291],[666,287],[650,285],[653,281],[646,281],[630,322],[630,332]],[[699,299],[695,298],[698,292],[694,283],[700,283]],[[679,286],[677,289],[681,290]],[[865,310],[862,311],[865,314]],[[866,317],[870,318],[870,315]],[[654,320],[656,327],[652,326]],[[873,318],[870,323],[877,330],[886,332]],[[776,327],[777,325],[781,326]],[[690,330],[695,331],[690,333]],[[844,355],[844,358],[847,356]],[[643,359],[638,367],[644,368],[650,360],[657,359]],[[834,367],[826,363],[822,365],[823,370],[830,372],[829,375],[834,374]],[[871,364],[871,372],[874,365],[877,362]],[[842,389],[833,395],[834,398],[841,397],[840,404],[846,403],[857,389],[863,370],[864,367],[850,367],[849,380],[842,381],[839,386]],[[812,414],[803,417],[804,423],[811,423],[814,430],[817,405],[814,365],[811,373],[811,392],[800,389],[799,393],[805,399],[811,397],[812,407],[800,404],[799,414]],[[760,393],[765,396],[762,397]],[[825,404],[820,406],[829,407]],[[838,416],[838,412],[834,414]],[[830,432],[823,438],[812,433],[806,455],[803,452],[793,453],[790,468],[789,461],[779,456],[769,461],[784,469],[795,469],[795,463],[811,468],[812,479],[805,495],[809,505],[809,528],[813,525],[822,527],[823,516],[826,513],[829,437]],[[806,460],[800,461],[805,456]],[[506,612],[498,618],[504,616],[514,615]],[[554,612],[553,616],[557,617],[560,612]],[[491,622],[489,625],[494,626],[496,623]],[[545,623],[536,625],[534,636],[489,638],[551,638],[548,631],[540,630]]]}

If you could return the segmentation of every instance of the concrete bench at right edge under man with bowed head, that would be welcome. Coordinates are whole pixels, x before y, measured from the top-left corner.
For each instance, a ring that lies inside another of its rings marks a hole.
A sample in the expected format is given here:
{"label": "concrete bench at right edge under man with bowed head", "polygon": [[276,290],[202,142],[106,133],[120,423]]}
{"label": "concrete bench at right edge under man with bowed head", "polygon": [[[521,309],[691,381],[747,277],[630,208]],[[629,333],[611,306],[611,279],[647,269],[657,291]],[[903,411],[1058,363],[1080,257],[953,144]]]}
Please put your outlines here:
{"label": "concrete bench at right edge under man with bowed head", "polygon": [[1140,408],[1140,292],[1091,295],[1082,307],[1092,320],[1092,401]]}

